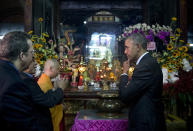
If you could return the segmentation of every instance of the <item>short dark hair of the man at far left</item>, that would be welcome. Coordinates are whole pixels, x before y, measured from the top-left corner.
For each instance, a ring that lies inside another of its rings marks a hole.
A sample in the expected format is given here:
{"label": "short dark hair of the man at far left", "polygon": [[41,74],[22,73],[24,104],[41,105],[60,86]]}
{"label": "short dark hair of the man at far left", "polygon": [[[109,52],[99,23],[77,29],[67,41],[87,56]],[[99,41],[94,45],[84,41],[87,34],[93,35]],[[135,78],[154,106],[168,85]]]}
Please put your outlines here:
{"label": "short dark hair of the man at far left", "polygon": [[26,53],[28,51],[28,39],[30,36],[22,31],[7,33],[0,41],[0,57],[10,61],[17,59],[21,52]]}

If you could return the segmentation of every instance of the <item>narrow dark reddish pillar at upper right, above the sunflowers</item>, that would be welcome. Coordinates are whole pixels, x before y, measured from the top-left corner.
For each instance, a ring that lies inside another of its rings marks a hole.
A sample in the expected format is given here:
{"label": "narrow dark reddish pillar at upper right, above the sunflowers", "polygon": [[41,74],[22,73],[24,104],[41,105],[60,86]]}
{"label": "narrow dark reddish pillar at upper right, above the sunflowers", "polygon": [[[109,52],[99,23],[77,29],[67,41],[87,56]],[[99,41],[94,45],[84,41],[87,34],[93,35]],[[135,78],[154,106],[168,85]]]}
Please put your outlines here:
{"label": "narrow dark reddish pillar at upper right, above the sunflowers", "polygon": [[182,30],[182,38],[187,42],[187,1],[180,0],[180,28]]}

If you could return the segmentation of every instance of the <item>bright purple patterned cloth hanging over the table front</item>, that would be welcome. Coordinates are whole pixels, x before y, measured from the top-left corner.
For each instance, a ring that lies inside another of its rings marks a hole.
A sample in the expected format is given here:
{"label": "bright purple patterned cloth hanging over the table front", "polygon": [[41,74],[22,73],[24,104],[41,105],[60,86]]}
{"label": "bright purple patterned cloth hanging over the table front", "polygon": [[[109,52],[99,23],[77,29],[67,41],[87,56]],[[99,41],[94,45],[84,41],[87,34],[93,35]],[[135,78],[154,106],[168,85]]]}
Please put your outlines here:
{"label": "bright purple patterned cloth hanging over the table front", "polygon": [[77,114],[71,131],[127,131],[127,119],[88,120],[78,119]]}

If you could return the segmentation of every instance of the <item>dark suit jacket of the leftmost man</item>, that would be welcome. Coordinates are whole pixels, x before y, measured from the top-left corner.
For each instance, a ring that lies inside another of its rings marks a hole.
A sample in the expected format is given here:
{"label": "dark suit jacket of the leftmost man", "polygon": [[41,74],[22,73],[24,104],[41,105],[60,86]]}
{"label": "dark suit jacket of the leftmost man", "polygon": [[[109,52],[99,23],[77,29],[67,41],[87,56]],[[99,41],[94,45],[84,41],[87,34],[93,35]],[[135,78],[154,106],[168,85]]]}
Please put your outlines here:
{"label": "dark suit jacket of the leftmost man", "polygon": [[0,60],[0,128],[1,131],[38,131],[30,90],[17,69]]}

